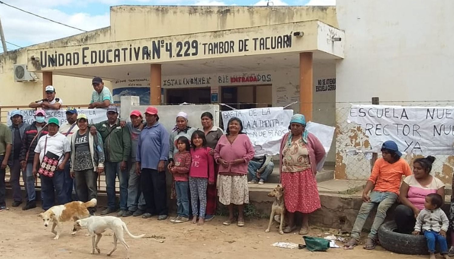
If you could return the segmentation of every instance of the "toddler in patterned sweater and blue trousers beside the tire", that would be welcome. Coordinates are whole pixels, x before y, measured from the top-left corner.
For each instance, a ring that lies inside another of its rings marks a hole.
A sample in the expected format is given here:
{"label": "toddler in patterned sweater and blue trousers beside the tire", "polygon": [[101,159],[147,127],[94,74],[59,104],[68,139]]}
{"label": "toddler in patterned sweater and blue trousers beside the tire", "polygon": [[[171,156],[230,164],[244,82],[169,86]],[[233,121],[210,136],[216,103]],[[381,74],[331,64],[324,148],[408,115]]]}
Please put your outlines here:
{"label": "toddler in patterned sweater and blue trousers beside the tire", "polygon": [[430,259],[435,259],[435,242],[439,245],[440,254],[444,259],[449,259],[448,244],[446,243],[446,231],[449,228],[449,220],[441,206],[444,199],[438,193],[431,193],[425,197],[424,209],[416,218],[413,235],[422,232],[429,249]]}

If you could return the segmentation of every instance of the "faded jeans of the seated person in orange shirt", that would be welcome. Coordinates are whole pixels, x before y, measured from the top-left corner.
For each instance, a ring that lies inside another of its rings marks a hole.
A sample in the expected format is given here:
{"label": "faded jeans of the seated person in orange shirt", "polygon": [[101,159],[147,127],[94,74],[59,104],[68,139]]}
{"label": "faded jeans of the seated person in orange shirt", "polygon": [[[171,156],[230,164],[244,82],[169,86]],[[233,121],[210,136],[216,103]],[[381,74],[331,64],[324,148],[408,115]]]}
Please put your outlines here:
{"label": "faded jeans of the seated person in orange shirt", "polygon": [[353,225],[353,230],[351,230],[351,237],[357,241],[360,240],[361,230],[363,229],[370,211],[378,205],[374,223],[367,236],[368,238],[375,240],[377,238],[378,228],[383,221],[385,221],[386,211],[395,203],[397,197],[397,194],[390,191],[372,191],[370,193],[370,201],[363,202],[361,205],[358,216],[356,216],[355,224]]}

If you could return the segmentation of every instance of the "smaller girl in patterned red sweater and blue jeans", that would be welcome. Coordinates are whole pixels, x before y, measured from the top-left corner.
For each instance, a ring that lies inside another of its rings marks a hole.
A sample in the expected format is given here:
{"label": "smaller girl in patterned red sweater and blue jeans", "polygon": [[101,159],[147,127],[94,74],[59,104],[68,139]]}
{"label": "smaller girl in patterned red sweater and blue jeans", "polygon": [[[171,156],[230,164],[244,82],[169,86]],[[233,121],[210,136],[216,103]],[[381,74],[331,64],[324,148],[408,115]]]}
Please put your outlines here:
{"label": "smaller girl in patterned red sweater and blue jeans", "polygon": [[189,221],[189,184],[188,173],[191,167],[191,146],[187,137],[179,137],[177,140],[178,153],[173,156],[173,165],[169,165],[169,171],[175,180],[175,192],[177,193],[177,217],[170,220],[173,223]]}

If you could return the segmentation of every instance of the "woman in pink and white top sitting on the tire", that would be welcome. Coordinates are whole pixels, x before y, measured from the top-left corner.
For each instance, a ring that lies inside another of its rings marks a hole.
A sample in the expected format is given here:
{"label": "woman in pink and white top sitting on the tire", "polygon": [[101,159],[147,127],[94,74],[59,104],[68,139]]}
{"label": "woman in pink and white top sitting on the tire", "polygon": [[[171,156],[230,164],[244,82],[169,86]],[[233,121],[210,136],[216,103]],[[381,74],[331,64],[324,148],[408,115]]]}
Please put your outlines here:
{"label": "woman in pink and white top sitting on the tire", "polygon": [[[405,177],[400,186],[400,205],[394,212],[397,231],[410,234],[416,217],[424,209],[426,195],[438,193],[444,198],[444,183],[430,175],[435,157],[427,156],[413,161],[413,175]],[[444,200],[444,199],[443,199]]]}

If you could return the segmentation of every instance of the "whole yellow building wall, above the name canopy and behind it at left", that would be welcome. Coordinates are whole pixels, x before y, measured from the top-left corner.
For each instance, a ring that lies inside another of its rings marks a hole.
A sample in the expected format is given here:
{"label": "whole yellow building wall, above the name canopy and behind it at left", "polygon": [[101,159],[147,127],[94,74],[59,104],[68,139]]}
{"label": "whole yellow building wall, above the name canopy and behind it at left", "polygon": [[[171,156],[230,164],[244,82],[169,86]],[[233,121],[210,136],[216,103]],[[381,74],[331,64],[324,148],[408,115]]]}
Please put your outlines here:
{"label": "whole yellow building wall, above the name canopy and behind it at left", "polygon": [[[323,6],[113,6],[111,26],[36,44],[0,55],[0,105],[27,105],[42,98],[42,81],[15,82],[14,64],[27,64],[27,49],[53,48],[125,39],[246,28],[318,19],[337,27],[336,8]],[[37,73],[38,78],[42,78]],[[85,75],[87,78],[94,75]],[[91,81],[54,75],[57,97],[64,104],[89,103]],[[110,87],[107,82],[106,85]]]}

